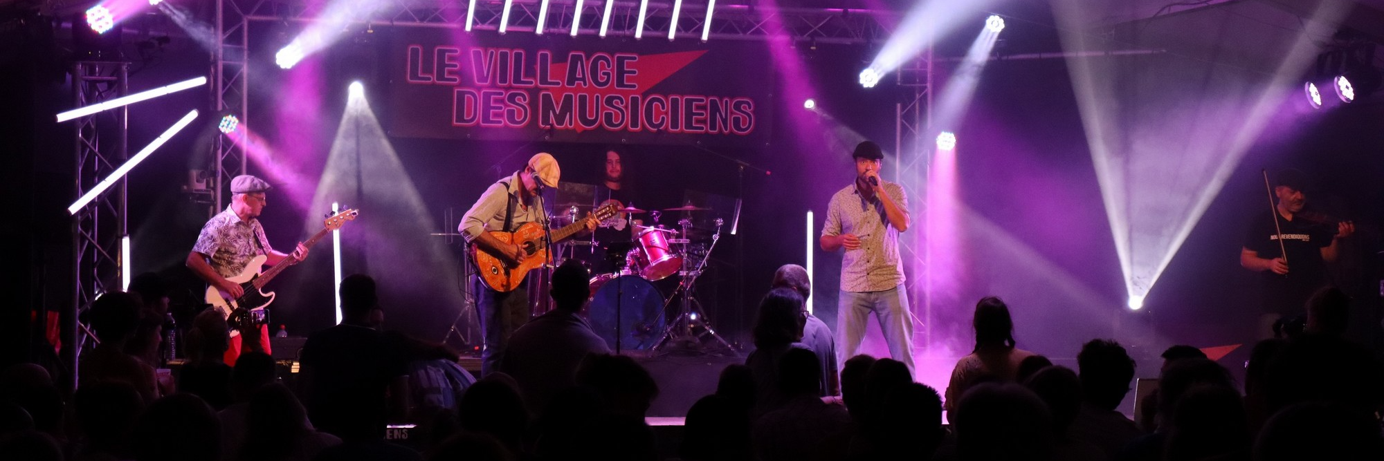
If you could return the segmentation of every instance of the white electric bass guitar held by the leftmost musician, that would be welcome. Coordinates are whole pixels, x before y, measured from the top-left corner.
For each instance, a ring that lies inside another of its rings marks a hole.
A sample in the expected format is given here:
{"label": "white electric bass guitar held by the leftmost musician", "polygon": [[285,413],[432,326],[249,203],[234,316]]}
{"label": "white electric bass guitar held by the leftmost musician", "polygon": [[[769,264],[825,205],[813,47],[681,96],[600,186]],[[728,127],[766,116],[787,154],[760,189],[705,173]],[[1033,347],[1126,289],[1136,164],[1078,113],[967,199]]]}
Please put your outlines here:
{"label": "white electric bass guitar held by the leftmost musician", "polygon": [[[346,221],[356,219],[360,215],[357,210],[342,210],[324,221],[322,229],[317,230],[311,239],[303,242],[304,247],[311,247],[317,240],[320,240],[327,233],[340,229]],[[260,268],[264,266],[266,257],[256,255],[251,258],[251,262],[245,265],[245,269],[234,277],[227,277],[241,286],[245,290],[239,298],[231,298],[230,293],[221,291],[219,288],[206,288],[206,304],[210,304],[217,312],[226,316],[227,323],[231,324],[231,337],[239,334],[241,330],[255,328],[257,331],[259,326],[268,323],[268,311],[264,309],[270,302],[274,302],[274,291],[264,293],[264,286],[274,276],[284,272],[289,264],[282,261],[275,264],[268,271],[260,273]]]}

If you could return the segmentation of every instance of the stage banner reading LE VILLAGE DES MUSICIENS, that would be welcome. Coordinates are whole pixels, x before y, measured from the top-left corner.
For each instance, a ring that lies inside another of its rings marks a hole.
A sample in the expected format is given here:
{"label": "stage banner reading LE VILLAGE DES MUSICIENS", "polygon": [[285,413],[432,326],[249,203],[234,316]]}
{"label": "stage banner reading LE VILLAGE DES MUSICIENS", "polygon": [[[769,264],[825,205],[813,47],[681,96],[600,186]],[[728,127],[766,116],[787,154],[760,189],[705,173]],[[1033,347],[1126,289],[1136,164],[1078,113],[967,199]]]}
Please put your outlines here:
{"label": "stage banner reading LE VILLAGE DES MUSICIENS", "polygon": [[394,137],[768,142],[775,75],[761,43],[411,28],[389,47]]}

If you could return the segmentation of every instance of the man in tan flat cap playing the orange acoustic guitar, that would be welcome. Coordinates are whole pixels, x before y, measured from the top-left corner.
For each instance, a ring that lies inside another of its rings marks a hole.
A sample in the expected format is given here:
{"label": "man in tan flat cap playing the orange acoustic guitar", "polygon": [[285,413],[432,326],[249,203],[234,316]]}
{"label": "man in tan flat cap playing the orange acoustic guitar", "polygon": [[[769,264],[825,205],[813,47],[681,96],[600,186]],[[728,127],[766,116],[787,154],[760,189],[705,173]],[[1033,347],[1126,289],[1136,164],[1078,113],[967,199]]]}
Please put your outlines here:
{"label": "man in tan flat cap playing the orange acoustic guitar", "polygon": [[[543,208],[541,192],[543,188],[556,188],[561,175],[562,168],[558,167],[558,159],[545,152],[534,155],[523,170],[491,184],[476,200],[476,204],[462,215],[457,230],[479,251],[489,253],[518,268],[520,261],[543,248],[526,248],[516,243],[502,242],[490,232],[513,232],[529,222],[547,228],[548,217]],[[584,224],[587,230],[591,230],[599,221],[588,217]],[[479,272],[472,276],[472,283],[476,288],[480,333],[484,337],[484,349],[480,352],[480,374],[487,375],[500,367],[500,359],[504,357],[509,335],[529,320],[529,279],[525,277],[518,287],[509,287],[505,291],[489,286]]]}

